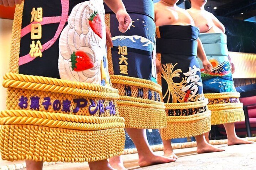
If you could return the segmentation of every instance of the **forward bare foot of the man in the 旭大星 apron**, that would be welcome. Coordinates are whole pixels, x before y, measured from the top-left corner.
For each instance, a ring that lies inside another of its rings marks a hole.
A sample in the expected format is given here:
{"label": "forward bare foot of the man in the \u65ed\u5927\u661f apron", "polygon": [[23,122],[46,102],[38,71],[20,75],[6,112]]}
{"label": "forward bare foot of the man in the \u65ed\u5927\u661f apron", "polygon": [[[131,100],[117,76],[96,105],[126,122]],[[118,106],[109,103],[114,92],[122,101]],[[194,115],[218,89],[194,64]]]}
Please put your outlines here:
{"label": "forward bare foot of the man in the \u65ed\u5927\u661f apron", "polygon": [[155,165],[155,164],[161,164],[161,163],[169,163],[169,162],[175,162],[176,159],[168,158],[165,156],[158,156],[155,154],[148,154],[146,156],[140,156],[139,157],[139,166],[149,166],[149,165]]}

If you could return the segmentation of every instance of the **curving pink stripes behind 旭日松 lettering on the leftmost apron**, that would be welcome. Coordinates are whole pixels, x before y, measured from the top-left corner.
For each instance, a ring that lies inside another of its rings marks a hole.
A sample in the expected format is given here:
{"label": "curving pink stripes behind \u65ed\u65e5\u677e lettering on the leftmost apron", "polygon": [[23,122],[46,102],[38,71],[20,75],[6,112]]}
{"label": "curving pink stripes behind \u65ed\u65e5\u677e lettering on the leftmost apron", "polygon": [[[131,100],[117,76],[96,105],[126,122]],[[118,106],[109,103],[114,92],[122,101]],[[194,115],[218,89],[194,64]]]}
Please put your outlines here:
{"label": "curving pink stripes behind \u65ed\u65e5\u677e lettering on the leftmost apron", "polygon": [[[62,6],[62,12],[61,12],[61,17],[60,17],[58,29],[57,29],[54,37],[50,41],[48,41],[48,42],[46,42],[45,44],[42,45],[42,47],[43,47],[43,49],[41,50],[42,52],[44,50],[47,50],[48,48],[50,48],[56,42],[56,40],[58,39],[59,35],[61,34],[61,31],[64,28],[65,23],[68,19],[69,0],[61,0],[61,6]],[[46,18],[48,18],[48,17],[46,17]],[[57,17],[55,17],[53,19],[51,18],[51,22],[56,22],[56,20],[57,20]],[[41,23],[43,23],[43,21]],[[47,24],[47,23],[48,23],[48,21],[45,21],[45,24]],[[49,23],[50,23],[50,21],[49,21]],[[23,28],[24,30],[21,32],[21,36],[24,36],[24,35],[26,35],[27,33],[30,32],[31,24],[26,26],[25,27],[26,29]],[[29,30],[29,32],[27,32],[28,30]],[[31,57],[30,54],[24,55],[24,56],[19,58],[19,66],[21,66],[23,64],[26,64],[26,63],[29,63],[30,61],[33,61],[35,58],[36,57]]]}

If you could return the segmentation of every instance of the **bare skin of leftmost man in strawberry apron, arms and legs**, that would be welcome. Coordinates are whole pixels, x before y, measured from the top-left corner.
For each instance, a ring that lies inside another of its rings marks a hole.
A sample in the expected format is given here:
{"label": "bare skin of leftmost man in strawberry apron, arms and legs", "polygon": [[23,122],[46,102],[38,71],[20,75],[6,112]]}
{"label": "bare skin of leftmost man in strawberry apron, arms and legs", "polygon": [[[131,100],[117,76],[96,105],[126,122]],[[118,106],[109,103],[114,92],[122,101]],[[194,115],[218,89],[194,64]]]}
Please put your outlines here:
{"label": "bare skin of leftmost man in strawberry apron, arms and legs", "polygon": [[[4,5],[5,7],[14,6],[15,4],[21,4],[22,0],[0,0],[0,5]],[[112,11],[116,14],[117,20],[119,22],[119,30],[120,32],[126,32],[131,24],[132,20],[129,14],[126,12],[126,9],[123,5],[121,0],[104,0],[104,2],[110,7]],[[106,29],[106,38],[107,41],[110,43],[110,46],[113,47],[113,43],[111,41],[111,34],[108,29]],[[107,160],[96,161],[96,162],[88,162],[89,167],[91,170],[112,170],[110,164]],[[43,168],[43,161],[36,162],[31,160],[26,160],[27,170],[42,170]]]}

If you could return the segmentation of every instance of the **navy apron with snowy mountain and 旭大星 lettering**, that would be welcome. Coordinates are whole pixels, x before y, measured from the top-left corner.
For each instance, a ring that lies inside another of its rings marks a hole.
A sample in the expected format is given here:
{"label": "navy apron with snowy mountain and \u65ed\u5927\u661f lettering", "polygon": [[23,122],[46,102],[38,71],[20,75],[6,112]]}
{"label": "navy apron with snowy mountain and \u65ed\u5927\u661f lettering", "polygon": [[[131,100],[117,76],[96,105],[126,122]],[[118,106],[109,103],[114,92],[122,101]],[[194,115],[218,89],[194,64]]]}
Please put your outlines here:
{"label": "navy apron with snowy mountain and \u65ed\u5927\u661f lettering", "polygon": [[156,82],[154,4],[151,0],[124,0],[132,26],[118,30],[116,15],[105,6],[105,22],[114,47],[107,51],[110,79],[119,90],[120,115],[127,128],[166,126],[161,86]]}

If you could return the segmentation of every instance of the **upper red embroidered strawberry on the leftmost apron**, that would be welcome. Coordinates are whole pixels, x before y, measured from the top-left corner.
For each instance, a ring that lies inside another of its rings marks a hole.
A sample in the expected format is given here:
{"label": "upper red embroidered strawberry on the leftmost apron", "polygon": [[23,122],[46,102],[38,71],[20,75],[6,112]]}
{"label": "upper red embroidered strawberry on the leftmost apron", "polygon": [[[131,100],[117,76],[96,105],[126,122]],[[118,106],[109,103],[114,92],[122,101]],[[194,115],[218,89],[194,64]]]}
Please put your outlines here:
{"label": "upper red embroidered strawberry on the leftmost apron", "polygon": [[95,32],[95,34],[102,38],[102,22],[98,11],[94,11],[94,13],[90,15],[90,17],[91,18],[89,18],[89,24],[91,26],[91,29],[93,30],[93,32]]}

